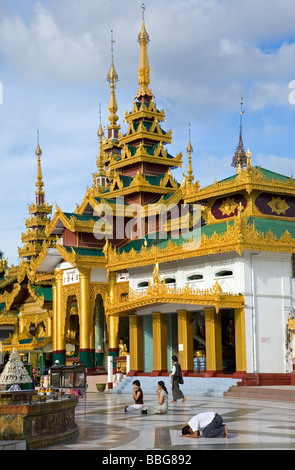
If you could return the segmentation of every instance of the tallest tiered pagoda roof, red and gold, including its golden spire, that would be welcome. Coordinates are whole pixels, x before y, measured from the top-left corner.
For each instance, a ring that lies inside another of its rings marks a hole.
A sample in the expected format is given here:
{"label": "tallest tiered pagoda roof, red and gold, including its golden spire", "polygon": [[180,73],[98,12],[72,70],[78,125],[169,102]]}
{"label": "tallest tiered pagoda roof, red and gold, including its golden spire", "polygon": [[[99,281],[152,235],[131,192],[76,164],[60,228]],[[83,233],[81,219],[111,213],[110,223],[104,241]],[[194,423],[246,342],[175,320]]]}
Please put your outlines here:
{"label": "tallest tiered pagoda roof, red and gold, including its golden spire", "polygon": [[119,133],[122,154],[110,159],[112,183],[108,191],[112,197],[124,195],[128,202],[137,202],[144,206],[178,189],[179,185],[173,179],[170,169],[182,166],[182,154],[173,157],[165,149],[165,145],[171,143],[172,132],[162,129],[160,123],[165,121],[165,112],[156,108],[149,88],[149,35],[144,18],[138,42],[140,88],[132,111],[125,114],[128,130],[124,135]]}

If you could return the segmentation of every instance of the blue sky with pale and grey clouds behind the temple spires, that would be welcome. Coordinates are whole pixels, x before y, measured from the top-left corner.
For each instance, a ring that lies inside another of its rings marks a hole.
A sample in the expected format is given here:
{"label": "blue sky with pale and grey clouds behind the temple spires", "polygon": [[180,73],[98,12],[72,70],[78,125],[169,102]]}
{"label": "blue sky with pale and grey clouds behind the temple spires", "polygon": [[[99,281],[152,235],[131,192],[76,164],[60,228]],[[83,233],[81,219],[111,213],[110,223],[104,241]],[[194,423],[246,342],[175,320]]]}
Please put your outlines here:
{"label": "blue sky with pale and grey clouds behind the temple spires", "polygon": [[[142,0],[0,0],[0,251],[17,265],[35,198],[37,129],[46,201],[73,212],[92,185],[97,130],[109,124],[114,64],[121,132],[138,90]],[[201,186],[234,173],[243,141],[252,164],[295,176],[294,0],[145,0],[150,88],[169,153],[193,146]],[[189,124],[190,123],[190,124]]]}

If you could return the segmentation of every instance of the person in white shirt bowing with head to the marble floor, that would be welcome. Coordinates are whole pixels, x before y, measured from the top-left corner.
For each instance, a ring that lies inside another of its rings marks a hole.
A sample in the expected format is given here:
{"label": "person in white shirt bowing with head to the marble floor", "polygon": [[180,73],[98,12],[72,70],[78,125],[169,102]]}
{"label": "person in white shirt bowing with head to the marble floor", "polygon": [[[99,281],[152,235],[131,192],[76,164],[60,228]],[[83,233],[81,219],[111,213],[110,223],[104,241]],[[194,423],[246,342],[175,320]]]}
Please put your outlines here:
{"label": "person in white shirt bowing with head to the marble floor", "polygon": [[193,416],[187,426],[182,428],[181,437],[198,438],[200,431],[204,437],[228,437],[226,424],[222,417],[214,411],[205,411]]}

